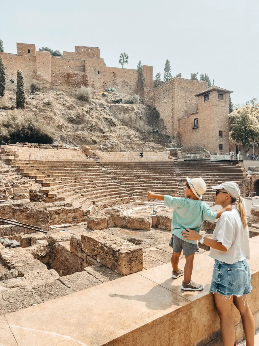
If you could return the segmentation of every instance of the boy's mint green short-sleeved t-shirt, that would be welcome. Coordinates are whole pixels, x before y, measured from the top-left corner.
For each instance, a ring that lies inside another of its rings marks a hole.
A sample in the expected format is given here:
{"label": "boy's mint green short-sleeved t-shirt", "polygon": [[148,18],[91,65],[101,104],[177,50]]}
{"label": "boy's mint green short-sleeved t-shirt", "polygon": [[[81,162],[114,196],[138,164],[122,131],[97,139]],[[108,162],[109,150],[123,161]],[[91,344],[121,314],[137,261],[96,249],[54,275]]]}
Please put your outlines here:
{"label": "boy's mint green short-sleeved t-shirt", "polygon": [[[182,230],[190,228],[200,233],[204,220],[214,222],[217,218],[217,212],[212,211],[201,200],[165,195],[164,204],[166,207],[174,208],[171,233],[180,239],[183,239]],[[183,240],[188,243],[198,244],[197,240]]]}

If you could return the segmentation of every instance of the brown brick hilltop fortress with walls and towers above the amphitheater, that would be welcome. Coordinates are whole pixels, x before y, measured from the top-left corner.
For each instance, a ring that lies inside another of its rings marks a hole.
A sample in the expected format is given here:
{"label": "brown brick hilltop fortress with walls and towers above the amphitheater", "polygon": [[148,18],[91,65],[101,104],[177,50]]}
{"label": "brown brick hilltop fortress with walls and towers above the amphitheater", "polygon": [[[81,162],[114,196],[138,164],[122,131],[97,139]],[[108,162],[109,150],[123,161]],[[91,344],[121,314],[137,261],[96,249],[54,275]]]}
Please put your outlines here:
{"label": "brown brick hilltop fortress with walls and towers above the amphitheater", "polygon": [[[118,92],[135,94],[136,70],[104,66],[98,47],[75,46],[63,57],[36,51],[34,44],[17,43],[17,54],[0,53],[7,68],[7,89],[15,89],[17,70],[25,86],[33,79],[47,88],[73,89],[80,85],[97,91],[113,87]],[[229,94],[232,91],[208,83],[173,78],[153,88],[153,67],[143,65],[145,103],[160,112],[177,146],[203,146],[211,154],[229,153]],[[209,121],[208,121],[209,120]]]}

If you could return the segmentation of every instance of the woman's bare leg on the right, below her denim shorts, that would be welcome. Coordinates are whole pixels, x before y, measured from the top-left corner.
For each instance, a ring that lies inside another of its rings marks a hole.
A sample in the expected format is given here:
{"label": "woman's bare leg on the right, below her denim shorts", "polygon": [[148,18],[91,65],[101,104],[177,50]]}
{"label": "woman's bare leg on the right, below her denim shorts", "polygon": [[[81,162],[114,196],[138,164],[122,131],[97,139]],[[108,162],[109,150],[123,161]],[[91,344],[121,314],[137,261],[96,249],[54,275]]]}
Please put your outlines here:
{"label": "woman's bare leg on the right, below her denim shorts", "polygon": [[234,297],[233,303],[241,315],[246,346],[253,346],[255,343],[255,320],[247,302],[247,294],[244,294],[243,297]]}

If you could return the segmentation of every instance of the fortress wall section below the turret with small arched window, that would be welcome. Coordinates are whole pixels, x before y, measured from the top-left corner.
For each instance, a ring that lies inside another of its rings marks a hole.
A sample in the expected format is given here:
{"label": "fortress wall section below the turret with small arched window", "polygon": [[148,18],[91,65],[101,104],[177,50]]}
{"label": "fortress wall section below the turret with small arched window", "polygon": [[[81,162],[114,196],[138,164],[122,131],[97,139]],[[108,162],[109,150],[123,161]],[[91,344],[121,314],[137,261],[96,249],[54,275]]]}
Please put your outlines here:
{"label": "fortress wall section below the turret with small arched window", "polygon": [[21,70],[25,88],[29,89],[32,80],[36,79],[36,56],[17,55],[16,59],[17,70]]}

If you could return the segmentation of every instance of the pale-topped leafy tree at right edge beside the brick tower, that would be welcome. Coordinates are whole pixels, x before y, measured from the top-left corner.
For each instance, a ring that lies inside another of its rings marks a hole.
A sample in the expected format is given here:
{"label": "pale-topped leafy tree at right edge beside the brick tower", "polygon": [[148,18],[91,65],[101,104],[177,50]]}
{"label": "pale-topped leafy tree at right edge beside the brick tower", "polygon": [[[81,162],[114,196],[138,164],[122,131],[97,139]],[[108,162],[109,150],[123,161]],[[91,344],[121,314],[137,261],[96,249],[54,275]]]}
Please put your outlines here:
{"label": "pale-topped leafy tree at right edge beside the brick tower", "polygon": [[246,154],[250,147],[259,140],[259,104],[256,103],[256,99],[233,110],[229,119],[230,138],[236,143],[241,143]]}

